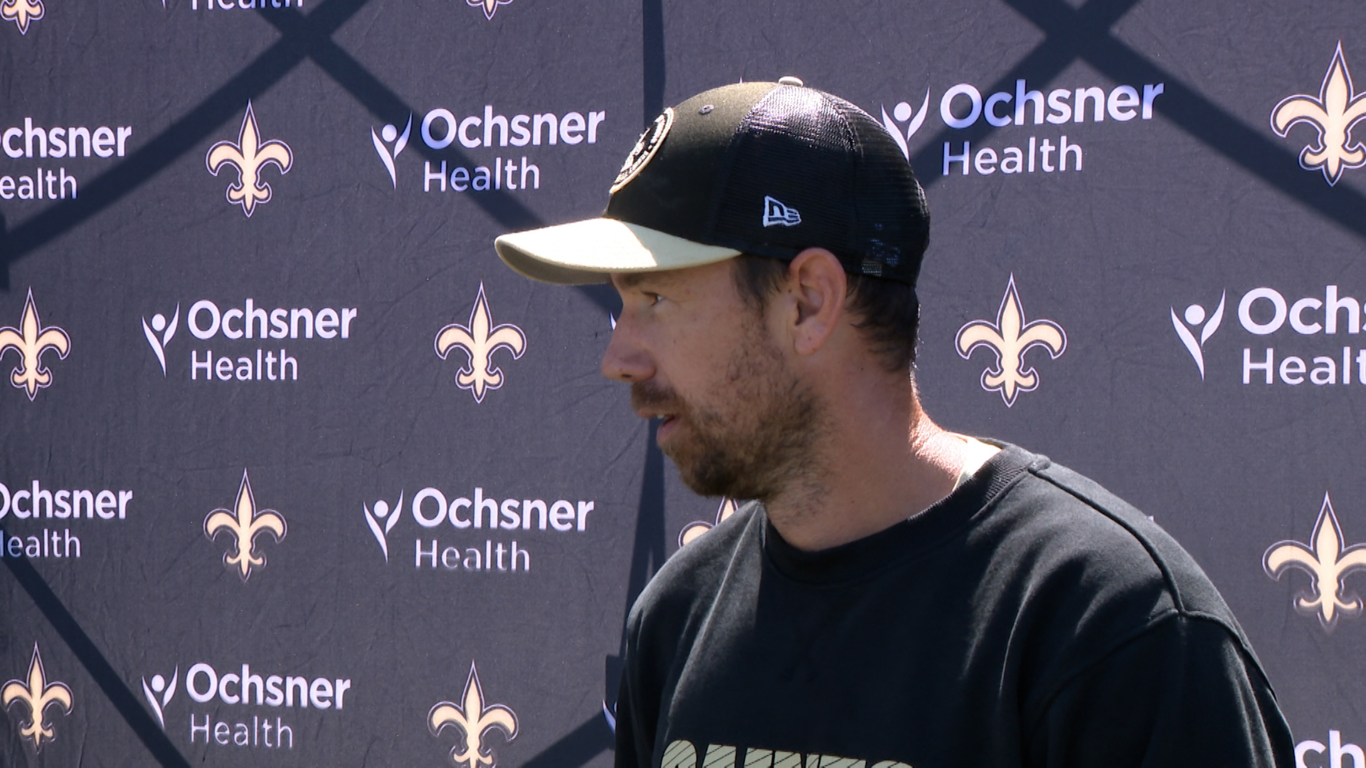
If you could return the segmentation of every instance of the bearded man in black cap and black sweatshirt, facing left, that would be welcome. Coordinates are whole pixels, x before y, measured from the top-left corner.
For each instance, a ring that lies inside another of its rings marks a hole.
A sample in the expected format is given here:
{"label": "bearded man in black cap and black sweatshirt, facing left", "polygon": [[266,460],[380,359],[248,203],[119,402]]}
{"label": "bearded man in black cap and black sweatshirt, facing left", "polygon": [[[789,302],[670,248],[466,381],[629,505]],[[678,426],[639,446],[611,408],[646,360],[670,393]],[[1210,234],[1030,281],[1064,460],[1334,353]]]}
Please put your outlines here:
{"label": "bearded man in black cap and black sweatshirt, facing left", "polygon": [[530,277],[612,280],[602,372],[694,491],[757,500],[631,611],[616,764],[1294,765],[1173,540],[921,409],[928,235],[881,126],[784,78],[665,111],[601,219],[497,239]]}

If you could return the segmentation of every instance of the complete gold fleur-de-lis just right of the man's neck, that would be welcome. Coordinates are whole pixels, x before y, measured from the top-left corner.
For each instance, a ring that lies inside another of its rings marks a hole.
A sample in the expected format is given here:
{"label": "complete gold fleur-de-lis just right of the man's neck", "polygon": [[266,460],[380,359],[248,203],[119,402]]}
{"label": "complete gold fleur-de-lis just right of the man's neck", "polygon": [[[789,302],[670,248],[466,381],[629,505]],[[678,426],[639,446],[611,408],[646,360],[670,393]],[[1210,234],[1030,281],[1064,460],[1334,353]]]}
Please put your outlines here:
{"label": "complete gold fleur-de-lis just right of the man's neck", "polygon": [[996,368],[982,372],[982,389],[1000,392],[1005,406],[1011,407],[1020,392],[1038,388],[1038,373],[1026,365],[1024,353],[1044,347],[1052,359],[1057,359],[1067,351],[1067,333],[1052,320],[1024,321],[1024,307],[1015,290],[1015,275],[1011,275],[996,323],[974,320],[963,325],[958,329],[955,346],[963,359],[973,357],[977,347],[986,347],[996,354]]}

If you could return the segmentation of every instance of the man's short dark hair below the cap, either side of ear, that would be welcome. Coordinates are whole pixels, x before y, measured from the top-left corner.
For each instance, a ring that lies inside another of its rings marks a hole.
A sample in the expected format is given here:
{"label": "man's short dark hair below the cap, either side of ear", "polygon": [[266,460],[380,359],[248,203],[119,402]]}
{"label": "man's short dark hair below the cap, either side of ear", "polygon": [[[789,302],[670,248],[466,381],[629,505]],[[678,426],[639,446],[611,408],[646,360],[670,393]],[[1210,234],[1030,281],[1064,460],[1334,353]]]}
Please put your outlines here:
{"label": "man's short dark hair below the cap, either side of ear", "polygon": [[[762,310],[787,277],[790,261],[740,254],[735,258],[735,288],[751,309]],[[848,307],[854,327],[872,344],[889,372],[910,372],[915,364],[921,302],[915,288],[900,280],[848,275]]]}

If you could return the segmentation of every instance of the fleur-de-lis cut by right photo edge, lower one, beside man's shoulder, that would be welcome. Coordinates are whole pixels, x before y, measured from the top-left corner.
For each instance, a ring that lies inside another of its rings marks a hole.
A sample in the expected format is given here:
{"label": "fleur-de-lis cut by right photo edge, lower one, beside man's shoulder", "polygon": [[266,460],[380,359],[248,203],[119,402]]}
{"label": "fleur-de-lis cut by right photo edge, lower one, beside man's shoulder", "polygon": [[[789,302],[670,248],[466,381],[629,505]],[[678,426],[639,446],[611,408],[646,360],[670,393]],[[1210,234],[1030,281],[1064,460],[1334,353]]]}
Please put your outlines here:
{"label": "fleur-de-lis cut by right photo edge, lower one, beside man's shoulder", "polygon": [[1324,493],[1318,510],[1313,547],[1299,541],[1277,541],[1262,556],[1266,575],[1280,581],[1285,568],[1299,568],[1309,574],[1309,592],[1295,596],[1295,608],[1306,615],[1318,615],[1325,631],[1333,631],[1340,615],[1355,616],[1362,611],[1362,600],[1347,592],[1344,579],[1352,571],[1366,568],[1366,544],[1343,548],[1343,529],[1333,514],[1333,503]]}

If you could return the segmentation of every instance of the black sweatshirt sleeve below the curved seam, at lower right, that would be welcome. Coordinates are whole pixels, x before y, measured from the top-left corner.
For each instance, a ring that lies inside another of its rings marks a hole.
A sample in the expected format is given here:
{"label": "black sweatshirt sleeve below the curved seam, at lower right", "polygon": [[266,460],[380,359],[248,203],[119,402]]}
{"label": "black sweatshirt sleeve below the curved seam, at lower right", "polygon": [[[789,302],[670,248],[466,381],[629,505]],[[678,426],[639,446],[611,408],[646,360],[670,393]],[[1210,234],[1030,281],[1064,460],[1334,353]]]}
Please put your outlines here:
{"label": "black sweatshirt sleeve below the curved seam, at lower right", "polygon": [[1172,615],[1064,682],[1026,731],[1035,768],[1294,768],[1255,659],[1223,625]]}

